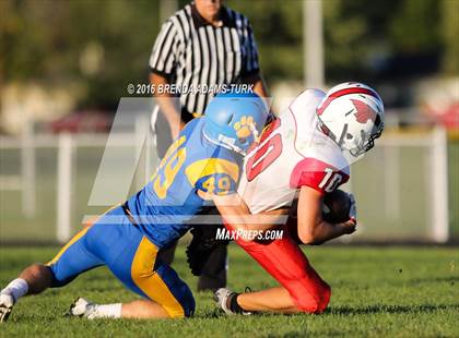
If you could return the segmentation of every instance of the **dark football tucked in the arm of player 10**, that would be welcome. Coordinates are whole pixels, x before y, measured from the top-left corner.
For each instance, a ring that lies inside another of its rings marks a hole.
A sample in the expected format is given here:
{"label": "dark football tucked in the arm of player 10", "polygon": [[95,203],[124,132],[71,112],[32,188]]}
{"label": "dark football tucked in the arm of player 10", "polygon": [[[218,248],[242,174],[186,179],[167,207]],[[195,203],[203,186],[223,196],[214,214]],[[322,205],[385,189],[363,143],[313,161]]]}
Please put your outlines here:
{"label": "dark football tucked in the arm of player 10", "polygon": [[348,193],[337,189],[323,197],[322,218],[330,224],[340,224],[349,220],[351,198]]}

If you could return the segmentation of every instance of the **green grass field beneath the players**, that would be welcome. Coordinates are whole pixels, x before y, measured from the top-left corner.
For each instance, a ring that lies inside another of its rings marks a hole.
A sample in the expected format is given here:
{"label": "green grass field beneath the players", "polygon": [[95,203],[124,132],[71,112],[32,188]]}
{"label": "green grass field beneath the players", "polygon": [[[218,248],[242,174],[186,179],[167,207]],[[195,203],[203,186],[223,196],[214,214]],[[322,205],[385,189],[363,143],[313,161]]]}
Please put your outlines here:
{"label": "green grass field beneath the players", "polygon": [[[45,262],[57,248],[0,249],[0,286],[25,265]],[[1,337],[459,337],[459,249],[305,248],[332,287],[322,315],[223,315],[210,293],[197,293],[193,318],[177,321],[93,321],[62,317],[78,295],[95,302],[136,299],[105,268],[80,276],[63,289],[22,299]],[[229,246],[228,286],[254,290],[275,281],[235,244]],[[174,266],[192,289],[184,248]]]}

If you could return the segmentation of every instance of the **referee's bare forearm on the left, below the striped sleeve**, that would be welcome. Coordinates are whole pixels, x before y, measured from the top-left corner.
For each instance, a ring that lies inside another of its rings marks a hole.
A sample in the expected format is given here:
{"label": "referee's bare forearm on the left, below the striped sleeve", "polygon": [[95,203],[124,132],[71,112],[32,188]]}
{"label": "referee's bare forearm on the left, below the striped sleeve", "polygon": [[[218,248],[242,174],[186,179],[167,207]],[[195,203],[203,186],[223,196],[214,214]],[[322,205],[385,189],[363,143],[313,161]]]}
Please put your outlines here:
{"label": "referee's bare forearm on the left, below the striped sleeve", "polygon": [[[154,88],[158,88],[160,86],[164,87],[164,85],[169,84],[166,77],[155,73],[150,74],[150,82]],[[167,90],[162,90],[162,93],[155,90],[153,96],[156,98],[160,110],[166,118],[173,134],[178,134],[184,123],[176,98],[170,93],[167,93]]]}

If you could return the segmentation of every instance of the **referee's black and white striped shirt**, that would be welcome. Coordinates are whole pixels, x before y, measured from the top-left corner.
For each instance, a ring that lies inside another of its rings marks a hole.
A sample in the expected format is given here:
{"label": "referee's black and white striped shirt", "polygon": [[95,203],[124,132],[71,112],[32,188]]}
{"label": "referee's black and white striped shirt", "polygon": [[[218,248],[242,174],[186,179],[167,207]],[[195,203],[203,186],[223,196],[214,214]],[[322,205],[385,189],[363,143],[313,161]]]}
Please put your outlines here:
{"label": "referee's black and white striped shirt", "polygon": [[222,7],[222,26],[207,22],[195,4],[187,4],[163,25],[150,57],[153,73],[166,76],[181,88],[186,111],[202,113],[216,85],[238,83],[259,71],[258,50],[250,24],[244,15]]}

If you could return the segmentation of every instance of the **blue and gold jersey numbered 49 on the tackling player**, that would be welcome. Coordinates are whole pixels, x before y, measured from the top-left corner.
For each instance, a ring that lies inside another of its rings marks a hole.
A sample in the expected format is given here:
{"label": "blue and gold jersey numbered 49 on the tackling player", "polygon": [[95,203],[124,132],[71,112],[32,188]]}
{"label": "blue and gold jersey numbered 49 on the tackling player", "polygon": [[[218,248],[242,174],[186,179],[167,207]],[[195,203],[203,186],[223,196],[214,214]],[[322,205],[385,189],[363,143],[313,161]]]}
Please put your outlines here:
{"label": "blue and gold jersey numbered 49 on the tackling player", "polygon": [[181,237],[189,229],[187,220],[209,204],[198,190],[236,192],[243,157],[209,142],[202,133],[204,119],[186,125],[151,181],[128,200],[136,222],[158,248]]}

